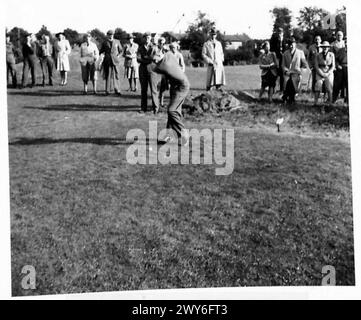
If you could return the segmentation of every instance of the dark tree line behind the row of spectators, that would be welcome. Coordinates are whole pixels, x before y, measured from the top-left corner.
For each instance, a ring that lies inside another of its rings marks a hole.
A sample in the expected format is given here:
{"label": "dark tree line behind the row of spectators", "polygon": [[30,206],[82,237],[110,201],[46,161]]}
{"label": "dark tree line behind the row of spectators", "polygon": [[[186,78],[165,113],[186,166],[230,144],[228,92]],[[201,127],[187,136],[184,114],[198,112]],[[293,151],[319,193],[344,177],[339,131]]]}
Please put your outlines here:
{"label": "dark tree line behind the row of spectators", "polygon": [[[296,27],[292,27],[293,13],[287,7],[274,7],[270,10],[270,14],[273,18],[273,30],[270,30],[270,37],[273,32],[279,27],[282,27],[285,37],[295,37],[305,50],[307,50],[307,47],[313,42],[316,35],[320,35],[323,40],[329,42],[334,40],[336,30],[341,30],[346,35],[345,7],[338,10],[338,13],[334,16],[330,16],[330,12],[322,8],[315,6],[304,7],[298,12]],[[326,18],[328,16],[330,16],[330,20],[333,21],[327,21]],[[329,22],[329,28],[325,26],[325,21],[326,23]],[[179,41],[181,49],[188,52],[184,57],[186,64],[192,63],[194,66],[199,66],[203,65],[201,56],[203,43],[207,40],[209,31],[215,27],[216,23],[212,21],[206,13],[199,11],[195,21],[188,26],[184,34],[179,35],[171,31],[165,31],[161,36],[165,37],[167,42]],[[20,27],[14,27],[7,32],[10,34],[11,41],[20,52],[23,39],[28,32]],[[83,34],[76,30],[67,28],[63,32],[72,46],[79,45],[83,41]],[[268,40],[251,39],[248,35],[243,34],[248,40],[238,49],[227,50],[225,34],[220,32],[220,30],[217,30],[217,33],[217,38],[222,43],[225,52],[225,65],[257,63],[261,44],[265,40]],[[54,41],[54,34],[44,25],[36,33],[36,37],[40,39],[43,34],[49,35],[52,41]],[[106,34],[98,28],[91,30],[90,34],[98,46],[106,39]],[[140,44],[143,33],[133,32],[133,35],[135,42]],[[128,32],[119,27],[115,28],[114,38],[118,39],[124,45],[127,42]]]}

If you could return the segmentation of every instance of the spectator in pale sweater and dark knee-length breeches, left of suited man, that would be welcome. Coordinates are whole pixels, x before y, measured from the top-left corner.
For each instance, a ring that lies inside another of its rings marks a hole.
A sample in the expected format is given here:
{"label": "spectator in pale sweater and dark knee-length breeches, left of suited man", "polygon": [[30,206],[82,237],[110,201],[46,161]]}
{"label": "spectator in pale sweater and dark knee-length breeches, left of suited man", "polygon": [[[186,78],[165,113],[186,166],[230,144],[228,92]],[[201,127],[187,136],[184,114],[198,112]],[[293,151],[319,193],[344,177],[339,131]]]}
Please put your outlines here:
{"label": "spectator in pale sweater and dark knee-length breeches, left of suited man", "polygon": [[91,34],[87,33],[84,36],[84,42],[80,45],[80,67],[84,84],[84,94],[87,94],[88,92],[89,80],[93,84],[94,94],[97,92],[97,72],[95,70],[95,62],[99,58],[99,50],[97,45],[91,41],[91,38]]}

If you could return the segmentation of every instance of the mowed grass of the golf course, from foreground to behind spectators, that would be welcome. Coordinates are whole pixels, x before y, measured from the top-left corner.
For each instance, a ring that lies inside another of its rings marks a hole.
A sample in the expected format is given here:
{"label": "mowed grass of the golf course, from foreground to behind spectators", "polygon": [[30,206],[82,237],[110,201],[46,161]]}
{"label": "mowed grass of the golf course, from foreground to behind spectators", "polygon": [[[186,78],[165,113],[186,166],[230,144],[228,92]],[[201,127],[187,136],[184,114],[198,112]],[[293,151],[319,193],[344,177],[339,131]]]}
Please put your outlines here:
{"label": "mowed grass of the golf course, from foreground to behind spectators", "polygon": [[[320,285],[325,265],[354,285],[345,128],[306,136],[240,114],[189,117],[188,128],[234,128],[231,175],[130,165],[128,130],[158,120],[159,131],[166,114],[138,114],[139,92],[82,96],[74,56],[68,86],[8,91],[13,295]],[[257,66],[226,73],[233,90],[258,88]],[[187,74],[201,93],[205,69]],[[36,290],[21,288],[24,265]]]}

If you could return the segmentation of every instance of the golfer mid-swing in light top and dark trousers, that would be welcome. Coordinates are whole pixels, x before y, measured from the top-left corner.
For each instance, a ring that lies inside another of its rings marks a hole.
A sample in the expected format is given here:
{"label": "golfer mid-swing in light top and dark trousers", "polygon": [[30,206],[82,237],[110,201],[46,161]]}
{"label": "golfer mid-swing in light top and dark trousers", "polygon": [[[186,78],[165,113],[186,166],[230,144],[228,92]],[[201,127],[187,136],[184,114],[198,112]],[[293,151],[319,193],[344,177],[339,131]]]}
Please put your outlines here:
{"label": "golfer mid-swing in light top and dark trousers", "polygon": [[[181,144],[188,144],[189,133],[182,122],[182,104],[187,97],[190,85],[187,76],[171,52],[157,51],[153,55],[154,71],[165,75],[169,80],[170,101],[168,105],[167,129],[173,129]],[[165,137],[168,142],[170,136]]]}

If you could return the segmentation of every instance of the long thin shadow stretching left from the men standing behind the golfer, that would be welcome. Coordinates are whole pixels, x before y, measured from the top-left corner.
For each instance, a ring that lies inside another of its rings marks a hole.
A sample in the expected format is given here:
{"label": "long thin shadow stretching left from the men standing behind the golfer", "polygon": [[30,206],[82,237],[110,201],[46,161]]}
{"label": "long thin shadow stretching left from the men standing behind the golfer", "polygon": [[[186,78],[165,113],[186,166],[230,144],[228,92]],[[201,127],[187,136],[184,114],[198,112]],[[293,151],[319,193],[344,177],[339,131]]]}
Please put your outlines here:
{"label": "long thin shadow stretching left from the men standing behind the golfer", "polygon": [[[120,104],[120,103],[119,103]],[[113,111],[113,112],[128,112],[128,111],[140,111],[140,106],[121,106],[110,105],[102,106],[99,104],[55,104],[43,107],[25,106],[24,109],[37,109],[45,111]]]}

